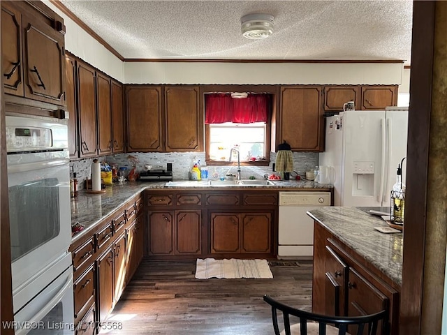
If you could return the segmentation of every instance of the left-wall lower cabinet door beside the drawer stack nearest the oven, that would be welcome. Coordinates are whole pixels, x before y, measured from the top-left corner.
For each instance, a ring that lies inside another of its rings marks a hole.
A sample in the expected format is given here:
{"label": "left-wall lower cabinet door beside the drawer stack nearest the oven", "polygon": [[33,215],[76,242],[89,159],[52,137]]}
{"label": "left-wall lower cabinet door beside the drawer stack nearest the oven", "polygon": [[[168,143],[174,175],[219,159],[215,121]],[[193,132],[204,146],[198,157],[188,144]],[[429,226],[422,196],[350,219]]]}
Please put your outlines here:
{"label": "left-wall lower cabinet door beside the drawer stack nearest the oven", "polygon": [[113,261],[112,246],[96,261],[98,268],[98,321],[103,322],[113,307]]}

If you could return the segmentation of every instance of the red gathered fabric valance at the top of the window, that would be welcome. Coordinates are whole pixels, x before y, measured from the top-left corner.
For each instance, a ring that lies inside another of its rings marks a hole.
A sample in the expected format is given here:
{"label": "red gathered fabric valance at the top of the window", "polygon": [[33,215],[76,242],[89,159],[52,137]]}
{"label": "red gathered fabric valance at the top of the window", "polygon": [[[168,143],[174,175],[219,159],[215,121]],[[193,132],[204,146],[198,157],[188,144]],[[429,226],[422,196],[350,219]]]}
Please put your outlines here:
{"label": "red gathered fabric valance at the top of the window", "polygon": [[268,94],[249,94],[247,98],[231,98],[231,94],[205,94],[205,124],[252,124],[267,122]]}

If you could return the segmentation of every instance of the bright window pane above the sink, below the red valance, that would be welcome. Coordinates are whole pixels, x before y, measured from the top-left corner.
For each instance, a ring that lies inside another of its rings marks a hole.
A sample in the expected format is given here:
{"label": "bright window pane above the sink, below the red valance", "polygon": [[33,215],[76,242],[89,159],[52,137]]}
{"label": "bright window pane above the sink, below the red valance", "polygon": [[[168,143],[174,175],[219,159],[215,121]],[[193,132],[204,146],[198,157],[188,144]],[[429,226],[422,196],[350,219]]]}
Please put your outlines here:
{"label": "bright window pane above the sink, below the red valance", "polygon": [[226,161],[230,159],[230,150],[239,151],[240,161],[265,160],[265,123],[253,124],[210,124],[209,149],[210,161]]}

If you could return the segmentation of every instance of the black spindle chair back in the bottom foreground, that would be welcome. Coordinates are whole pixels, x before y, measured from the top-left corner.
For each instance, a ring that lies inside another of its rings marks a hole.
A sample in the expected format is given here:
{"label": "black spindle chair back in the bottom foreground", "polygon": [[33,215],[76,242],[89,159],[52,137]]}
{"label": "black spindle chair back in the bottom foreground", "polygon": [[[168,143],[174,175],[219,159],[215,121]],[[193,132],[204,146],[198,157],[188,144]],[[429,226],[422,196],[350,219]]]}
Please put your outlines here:
{"label": "black spindle chair back in the bottom foreground", "polygon": [[295,332],[296,335],[298,334],[308,335],[307,331],[309,321],[318,322],[318,335],[326,335],[327,332],[329,332],[330,334],[338,334],[338,335],[349,334],[348,333],[349,325],[357,325],[356,335],[363,335],[365,329],[367,329],[368,335],[376,335],[380,320],[383,321],[383,332],[388,333],[387,331],[388,312],[385,310],[380,311],[379,313],[362,315],[362,316],[351,316],[351,317],[328,316],[328,315],[319,315],[315,313],[301,311],[300,309],[281,304],[279,301],[272,299],[268,295],[264,295],[264,301],[270,304],[270,306],[272,306],[272,320],[275,335],[281,335],[281,333],[279,332],[277,311],[281,311],[283,314],[284,318],[283,334],[285,335],[292,335],[291,323],[289,318],[290,315],[293,315],[300,319],[300,332],[299,333]]}

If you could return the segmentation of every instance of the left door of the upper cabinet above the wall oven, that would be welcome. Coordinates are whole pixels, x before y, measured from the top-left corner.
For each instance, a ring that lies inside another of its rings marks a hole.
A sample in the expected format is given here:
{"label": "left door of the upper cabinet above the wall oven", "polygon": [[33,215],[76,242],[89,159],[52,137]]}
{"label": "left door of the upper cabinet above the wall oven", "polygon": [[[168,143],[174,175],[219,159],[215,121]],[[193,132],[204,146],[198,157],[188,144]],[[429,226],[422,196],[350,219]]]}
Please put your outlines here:
{"label": "left door of the upper cabinet above the wall oven", "polygon": [[23,96],[22,16],[1,1],[1,68],[6,94]]}

